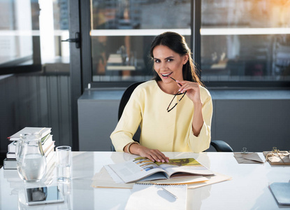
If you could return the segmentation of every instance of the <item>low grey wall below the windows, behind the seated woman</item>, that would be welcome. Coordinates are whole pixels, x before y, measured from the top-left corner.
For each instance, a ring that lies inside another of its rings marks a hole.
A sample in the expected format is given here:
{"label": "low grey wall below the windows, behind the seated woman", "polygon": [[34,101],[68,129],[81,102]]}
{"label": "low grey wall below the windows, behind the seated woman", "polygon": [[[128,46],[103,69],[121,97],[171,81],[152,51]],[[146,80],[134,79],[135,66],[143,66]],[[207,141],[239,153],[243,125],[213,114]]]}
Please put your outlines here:
{"label": "low grey wall below the windows, behind the seated woman", "polygon": [[[109,136],[117,124],[122,96],[122,91],[112,91],[86,90],[78,99],[80,151],[110,151]],[[234,151],[247,147],[261,152],[273,146],[289,150],[289,93],[212,90],[212,139],[226,141]]]}

